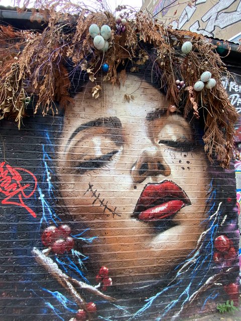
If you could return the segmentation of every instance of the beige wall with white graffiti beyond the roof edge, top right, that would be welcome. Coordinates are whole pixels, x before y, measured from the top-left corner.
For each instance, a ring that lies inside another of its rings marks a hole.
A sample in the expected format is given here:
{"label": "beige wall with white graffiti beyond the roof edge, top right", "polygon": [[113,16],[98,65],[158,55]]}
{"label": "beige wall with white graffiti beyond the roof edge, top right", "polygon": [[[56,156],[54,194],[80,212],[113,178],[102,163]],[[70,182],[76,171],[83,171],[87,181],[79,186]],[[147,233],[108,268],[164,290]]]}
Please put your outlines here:
{"label": "beige wall with white graffiti beyond the roof edge, top right", "polygon": [[178,1],[178,4],[175,0],[146,0],[142,7],[164,22],[177,19],[172,23],[173,28],[237,44],[241,38],[240,0],[218,0],[215,3],[211,0],[197,0],[191,5],[185,0]]}

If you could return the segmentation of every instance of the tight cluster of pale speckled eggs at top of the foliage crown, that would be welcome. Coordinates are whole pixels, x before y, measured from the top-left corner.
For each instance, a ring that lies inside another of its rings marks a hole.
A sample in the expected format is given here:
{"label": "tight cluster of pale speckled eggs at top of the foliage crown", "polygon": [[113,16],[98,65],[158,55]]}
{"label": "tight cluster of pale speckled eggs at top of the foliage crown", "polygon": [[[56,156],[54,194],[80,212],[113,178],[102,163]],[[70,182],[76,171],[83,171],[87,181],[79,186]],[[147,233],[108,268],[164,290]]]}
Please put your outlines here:
{"label": "tight cluster of pale speckled eggs at top of the foliage crown", "polygon": [[107,40],[111,36],[111,29],[109,26],[104,25],[99,29],[99,27],[95,24],[92,24],[89,27],[89,34],[94,39],[94,47],[103,52],[107,51],[109,48],[109,44]]}

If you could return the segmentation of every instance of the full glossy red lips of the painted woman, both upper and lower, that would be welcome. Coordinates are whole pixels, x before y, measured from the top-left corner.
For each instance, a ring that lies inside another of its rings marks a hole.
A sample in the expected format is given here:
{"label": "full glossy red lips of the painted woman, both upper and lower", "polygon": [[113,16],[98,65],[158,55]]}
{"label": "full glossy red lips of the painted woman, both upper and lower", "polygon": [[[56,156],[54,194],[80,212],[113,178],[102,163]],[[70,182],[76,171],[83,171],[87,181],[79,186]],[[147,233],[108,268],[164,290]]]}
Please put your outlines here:
{"label": "full glossy red lips of the painted woman, both upper and lower", "polygon": [[134,214],[139,220],[158,221],[190,205],[185,192],[171,181],[148,184],[137,202]]}

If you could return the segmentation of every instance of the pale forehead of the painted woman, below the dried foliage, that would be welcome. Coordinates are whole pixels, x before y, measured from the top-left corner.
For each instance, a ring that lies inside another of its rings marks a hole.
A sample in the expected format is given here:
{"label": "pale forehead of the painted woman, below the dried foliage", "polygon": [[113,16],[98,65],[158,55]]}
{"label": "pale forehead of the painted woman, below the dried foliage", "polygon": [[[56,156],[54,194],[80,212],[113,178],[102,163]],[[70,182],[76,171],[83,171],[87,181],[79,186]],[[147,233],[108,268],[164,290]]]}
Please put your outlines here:
{"label": "pale forehead of the painted woman, below the dried foliage", "polygon": [[[164,114],[167,111],[166,97],[141,77],[128,74],[124,86],[121,85],[120,88],[112,89],[111,84],[106,82],[97,84],[102,88],[97,99],[92,97],[91,92],[96,84],[90,82],[83,92],[74,97],[75,105],[69,105],[65,111],[66,124],[79,126],[101,117],[118,117],[125,123],[135,119],[137,123],[157,109]],[[129,95],[130,102],[124,98],[126,94]]]}

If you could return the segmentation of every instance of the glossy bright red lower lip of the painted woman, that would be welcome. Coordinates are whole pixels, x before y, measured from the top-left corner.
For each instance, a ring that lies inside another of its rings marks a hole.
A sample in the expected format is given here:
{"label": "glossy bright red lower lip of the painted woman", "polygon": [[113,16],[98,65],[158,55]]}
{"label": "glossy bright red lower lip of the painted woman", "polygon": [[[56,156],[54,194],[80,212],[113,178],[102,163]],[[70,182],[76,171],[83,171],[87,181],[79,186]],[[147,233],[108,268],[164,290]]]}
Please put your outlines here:
{"label": "glossy bright red lower lip of the painted woman", "polygon": [[138,218],[142,221],[158,221],[177,213],[185,205],[180,200],[172,200],[143,211]]}

